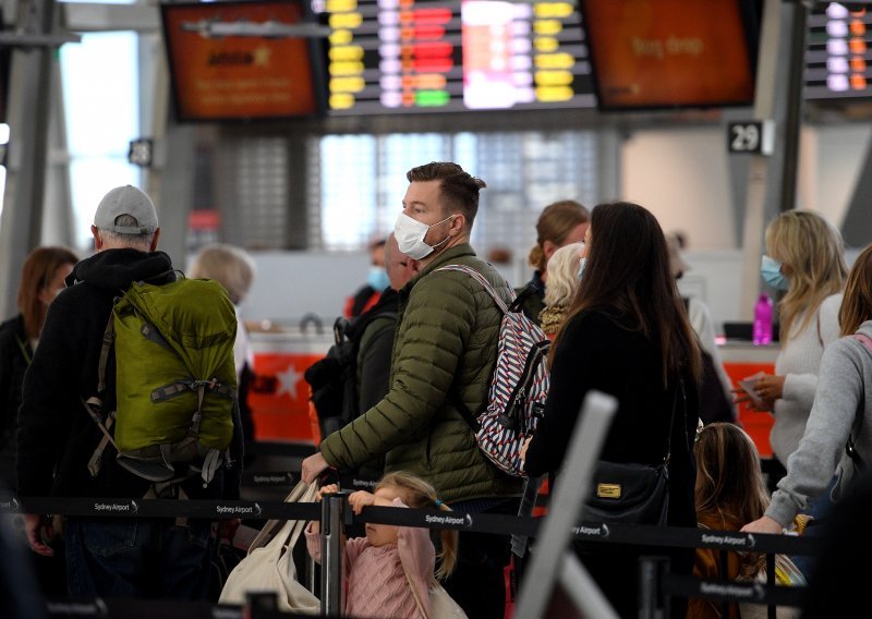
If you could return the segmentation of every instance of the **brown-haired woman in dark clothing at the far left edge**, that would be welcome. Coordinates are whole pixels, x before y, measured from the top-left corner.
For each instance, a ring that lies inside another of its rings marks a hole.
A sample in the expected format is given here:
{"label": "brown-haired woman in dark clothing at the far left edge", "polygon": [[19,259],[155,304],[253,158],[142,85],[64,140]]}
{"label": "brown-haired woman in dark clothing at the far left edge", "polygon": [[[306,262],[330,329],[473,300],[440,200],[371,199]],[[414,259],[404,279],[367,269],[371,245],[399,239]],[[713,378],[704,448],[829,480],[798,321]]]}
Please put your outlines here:
{"label": "brown-haired woman in dark clothing at the far left edge", "polygon": [[24,372],[39,341],[48,306],[78,258],[66,247],[38,247],[24,262],[19,315],[0,324],[0,484],[15,487],[15,432]]}

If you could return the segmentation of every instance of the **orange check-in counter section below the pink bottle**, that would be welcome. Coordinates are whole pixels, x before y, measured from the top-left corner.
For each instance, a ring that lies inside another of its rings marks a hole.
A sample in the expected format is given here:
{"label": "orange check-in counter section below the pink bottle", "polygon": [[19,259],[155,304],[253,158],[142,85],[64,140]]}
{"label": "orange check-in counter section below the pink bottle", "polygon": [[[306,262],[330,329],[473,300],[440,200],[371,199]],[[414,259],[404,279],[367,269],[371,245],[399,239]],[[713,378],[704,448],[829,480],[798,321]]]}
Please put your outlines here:
{"label": "orange check-in counter section below the pink bottle", "polygon": [[[736,387],[739,386],[739,380],[758,372],[774,374],[775,359],[779,350],[778,343],[754,345],[749,341],[736,340],[727,340],[726,343],[718,345],[724,368]],[[737,413],[744,430],[754,440],[761,458],[771,458],[770,429],[774,421],[772,413],[750,411],[743,405],[738,408]]]}

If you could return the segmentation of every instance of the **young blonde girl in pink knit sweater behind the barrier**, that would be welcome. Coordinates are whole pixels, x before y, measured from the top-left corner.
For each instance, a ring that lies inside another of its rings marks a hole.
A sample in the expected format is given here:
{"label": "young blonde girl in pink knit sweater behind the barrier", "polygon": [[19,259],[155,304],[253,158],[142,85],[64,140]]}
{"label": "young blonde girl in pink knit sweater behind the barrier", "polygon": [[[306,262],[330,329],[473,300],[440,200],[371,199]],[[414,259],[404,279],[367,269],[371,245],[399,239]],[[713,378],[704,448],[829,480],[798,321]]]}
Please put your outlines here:
{"label": "young blonde girl in pink knit sweater behind the barrier", "polygon": [[[339,490],[324,486],[320,496]],[[388,473],[374,493],[358,490],[348,499],[360,514],[365,507],[401,507],[451,511],[424,480],[401,471]],[[317,522],[306,530],[306,547],[320,562],[320,535]],[[444,580],[457,561],[457,531],[440,531],[439,553],[427,529],[366,523],[365,537],[344,541],[342,574],[344,617],[372,619],[428,619],[431,586]],[[437,567],[438,559],[438,567]]]}

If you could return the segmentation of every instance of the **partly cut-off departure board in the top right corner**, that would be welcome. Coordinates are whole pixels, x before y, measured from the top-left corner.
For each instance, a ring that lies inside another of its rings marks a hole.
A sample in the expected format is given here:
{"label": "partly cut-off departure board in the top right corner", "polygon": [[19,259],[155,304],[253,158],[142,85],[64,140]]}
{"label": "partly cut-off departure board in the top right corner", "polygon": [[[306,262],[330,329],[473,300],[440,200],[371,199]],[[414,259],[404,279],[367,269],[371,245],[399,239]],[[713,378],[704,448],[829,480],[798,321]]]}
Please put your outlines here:
{"label": "partly cut-off departure board in the top right corner", "polygon": [[809,15],[806,50],[807,99],[852,99],[872,95],[872,7],[838,2]]}

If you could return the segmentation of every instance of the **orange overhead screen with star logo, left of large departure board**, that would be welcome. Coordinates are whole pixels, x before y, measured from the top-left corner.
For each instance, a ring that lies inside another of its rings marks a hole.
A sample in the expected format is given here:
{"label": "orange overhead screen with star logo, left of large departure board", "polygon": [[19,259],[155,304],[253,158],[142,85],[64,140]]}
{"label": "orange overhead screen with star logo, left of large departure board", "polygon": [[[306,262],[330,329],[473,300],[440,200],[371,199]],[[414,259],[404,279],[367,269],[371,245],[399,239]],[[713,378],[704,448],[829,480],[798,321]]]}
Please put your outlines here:
{"label": "orange overhead screen with star logo, left of large departure board", "polygon": [[311,39],[292,0],[162,4],[179,120],[254,120],[318,110]]}

